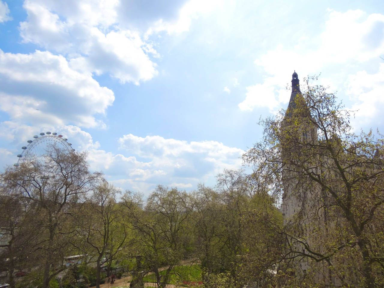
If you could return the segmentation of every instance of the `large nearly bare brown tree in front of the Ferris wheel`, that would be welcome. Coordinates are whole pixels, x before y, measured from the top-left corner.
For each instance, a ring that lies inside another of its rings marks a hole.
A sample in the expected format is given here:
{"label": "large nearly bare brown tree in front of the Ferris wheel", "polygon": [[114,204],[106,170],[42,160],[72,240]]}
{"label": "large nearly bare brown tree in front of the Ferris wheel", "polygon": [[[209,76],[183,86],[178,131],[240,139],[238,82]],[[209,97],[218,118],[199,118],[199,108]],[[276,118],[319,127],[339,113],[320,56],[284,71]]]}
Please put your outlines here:
{"label": "large nearly bare brown tree in front of the Ferris wheel", "polygon": [[[17,169],[7,168],[1,175],[2,190],[27,203],[33,211],[33,227],[40,227],[35,239],[35,262],[43,273],[43,288],[65,270],[70,252],[68,220],[72,208],[93,189],[100,174],[88,171],[85,153],[68,152],[57,146],[48,147],[44,157],[35,158]],[[65,235],[68,233],[68,235]]]}

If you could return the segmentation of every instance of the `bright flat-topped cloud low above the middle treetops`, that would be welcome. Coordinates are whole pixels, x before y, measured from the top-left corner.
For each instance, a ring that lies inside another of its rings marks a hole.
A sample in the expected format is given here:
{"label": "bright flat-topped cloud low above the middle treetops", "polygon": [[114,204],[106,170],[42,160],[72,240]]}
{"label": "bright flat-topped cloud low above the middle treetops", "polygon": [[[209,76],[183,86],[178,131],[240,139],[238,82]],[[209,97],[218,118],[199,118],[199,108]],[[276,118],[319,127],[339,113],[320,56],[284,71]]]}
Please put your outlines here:
{"label": "bright flat-topped cloud low above the middle treetops", "polygon": [[[224,168],[238,169],[242,165],[242,149],[225,146],[216,141],[181,141],[161,136],[139,137],[132,134],[119,139],[121,149],[148,159],[147,168],[137,170],[142,179],[158,179],[170,186],[189,187],[205,181]],[[147,171],[148,170],[148,171]],[[147,173],[151,172],[150,176]],[[181,182],[180,180],[183,180]],[[188,186],[185,186],[188,185]]]}

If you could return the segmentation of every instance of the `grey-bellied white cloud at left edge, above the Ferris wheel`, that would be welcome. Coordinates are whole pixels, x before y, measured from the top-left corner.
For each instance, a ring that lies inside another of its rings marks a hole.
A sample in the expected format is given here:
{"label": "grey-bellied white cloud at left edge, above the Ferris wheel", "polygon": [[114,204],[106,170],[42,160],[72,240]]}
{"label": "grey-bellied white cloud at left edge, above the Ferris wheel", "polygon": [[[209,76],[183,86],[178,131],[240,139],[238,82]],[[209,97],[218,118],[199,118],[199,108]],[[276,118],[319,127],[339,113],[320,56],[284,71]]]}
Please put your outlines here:
{"label": "grey-bellied white cloud at left edge, above the Ferris wheel", "polygon": [[110,89],[47,51],[27,55],[0,50],[0,75],[0,109],[26,123],[100,126],[95,115],[105,114],[114,101]]}

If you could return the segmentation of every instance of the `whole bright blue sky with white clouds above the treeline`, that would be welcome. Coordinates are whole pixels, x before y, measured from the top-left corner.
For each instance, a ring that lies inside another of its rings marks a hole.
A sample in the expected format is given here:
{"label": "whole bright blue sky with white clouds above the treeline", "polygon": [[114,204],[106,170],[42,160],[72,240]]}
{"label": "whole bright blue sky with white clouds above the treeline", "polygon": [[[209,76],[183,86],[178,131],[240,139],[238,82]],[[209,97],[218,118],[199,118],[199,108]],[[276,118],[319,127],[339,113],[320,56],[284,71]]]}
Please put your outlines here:
{"label": "whole bright blue sky with white clouds above the treeline", "polygon": [[214,185],[293,71],[384,132],[383,58],[382,0],[0,0],[0,165],[51,131],[122,190]]}

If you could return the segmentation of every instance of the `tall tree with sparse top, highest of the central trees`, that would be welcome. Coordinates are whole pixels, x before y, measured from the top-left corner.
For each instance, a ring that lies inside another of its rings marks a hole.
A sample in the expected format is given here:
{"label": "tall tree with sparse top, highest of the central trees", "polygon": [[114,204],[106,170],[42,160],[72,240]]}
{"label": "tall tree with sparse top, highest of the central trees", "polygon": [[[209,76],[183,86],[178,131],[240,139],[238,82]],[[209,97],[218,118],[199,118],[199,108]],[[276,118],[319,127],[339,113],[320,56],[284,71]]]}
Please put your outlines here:
{"label": "tall tree with sparse top, highest of the central trees", "polygon": [[236,275],[242,254],[242,216],[250,201],[246,175],[242,170],[224,170],[217,175],[215,189],[199,185],[196,215],[197,252],[203,277],[210,273]]}

